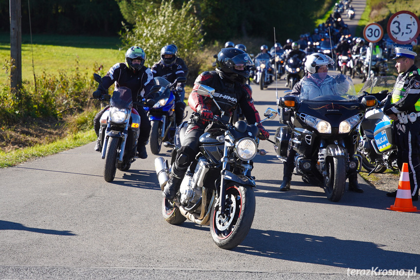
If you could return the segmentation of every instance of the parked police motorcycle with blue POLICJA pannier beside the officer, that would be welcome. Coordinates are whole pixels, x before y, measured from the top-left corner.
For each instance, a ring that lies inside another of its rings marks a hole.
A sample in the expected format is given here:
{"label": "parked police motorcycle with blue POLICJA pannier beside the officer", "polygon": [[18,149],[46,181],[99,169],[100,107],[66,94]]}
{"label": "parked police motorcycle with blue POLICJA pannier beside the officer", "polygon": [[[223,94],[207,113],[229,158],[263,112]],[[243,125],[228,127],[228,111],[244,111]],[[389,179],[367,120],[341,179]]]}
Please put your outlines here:
{"label": "parked police motorcycle with blue POLICJA pannier beside the officer", "polygon": [[357,152],[363,156],[362,166],[369,175],[373,172],[383,173],[386,169],[398,170],[393,120],[383,113],[388,92],[393,90],[395,82],[394,76],[370,77],[357,95],[359,99],[372,95],[382,100],[378,106],[366,111],[359,125],[361,139]]}

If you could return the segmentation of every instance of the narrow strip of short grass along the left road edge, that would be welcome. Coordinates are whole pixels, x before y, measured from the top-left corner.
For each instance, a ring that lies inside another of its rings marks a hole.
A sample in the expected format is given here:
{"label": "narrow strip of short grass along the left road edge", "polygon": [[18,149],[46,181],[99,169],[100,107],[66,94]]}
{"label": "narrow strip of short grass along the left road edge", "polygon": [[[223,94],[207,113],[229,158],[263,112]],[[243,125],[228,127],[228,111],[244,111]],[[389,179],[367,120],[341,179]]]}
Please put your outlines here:
{"label": "narrow strip of short grass along the left road edge", "polygon": [[52,155],[57,152],[83,146],[95,141],[95,139],[96,134],[91,130],[75,133],[51,144],[16,149],[8,153],[0,151],[0,168],[11,167],[38,157]]}

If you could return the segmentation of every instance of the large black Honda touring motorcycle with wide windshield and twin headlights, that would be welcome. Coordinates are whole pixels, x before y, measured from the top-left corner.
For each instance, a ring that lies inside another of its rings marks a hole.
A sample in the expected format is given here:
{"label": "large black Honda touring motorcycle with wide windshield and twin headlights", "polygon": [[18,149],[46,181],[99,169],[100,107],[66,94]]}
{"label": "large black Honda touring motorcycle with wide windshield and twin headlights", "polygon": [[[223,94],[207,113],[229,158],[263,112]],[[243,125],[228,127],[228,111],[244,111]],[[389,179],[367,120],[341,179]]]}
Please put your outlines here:
{"label": "large black Honda touring motorcycle with wide windshield and twin headlights", "polygon": [[[351,79],[342,74],[327,76],[316,85],[311,74],[302,79],[299,96],[277,99],[280,122],[274,149],[286,161],[288,145],[294,149],[296,173],[312,185],[322,186],[330,201],[339,201],[350,173],[359,172],[362,156],[356,154],[358,124],[365,110],[376,105],[374,96],[358,101]],[[290,143],[289,143],[290,142]]]}

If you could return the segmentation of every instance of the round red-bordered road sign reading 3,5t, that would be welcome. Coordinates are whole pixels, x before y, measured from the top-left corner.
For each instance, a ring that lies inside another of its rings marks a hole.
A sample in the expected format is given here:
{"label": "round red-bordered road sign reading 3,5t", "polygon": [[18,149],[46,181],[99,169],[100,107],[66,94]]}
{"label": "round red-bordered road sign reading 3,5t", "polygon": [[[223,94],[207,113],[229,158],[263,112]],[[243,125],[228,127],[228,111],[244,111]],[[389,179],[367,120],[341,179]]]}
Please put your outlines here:
{"label": "round red-bordered road sign reading 3,5t", "polygon": [[400,11],[388,20],[386,30],[394,42],[409,44],[419,36],[419,18],[409,11]]}

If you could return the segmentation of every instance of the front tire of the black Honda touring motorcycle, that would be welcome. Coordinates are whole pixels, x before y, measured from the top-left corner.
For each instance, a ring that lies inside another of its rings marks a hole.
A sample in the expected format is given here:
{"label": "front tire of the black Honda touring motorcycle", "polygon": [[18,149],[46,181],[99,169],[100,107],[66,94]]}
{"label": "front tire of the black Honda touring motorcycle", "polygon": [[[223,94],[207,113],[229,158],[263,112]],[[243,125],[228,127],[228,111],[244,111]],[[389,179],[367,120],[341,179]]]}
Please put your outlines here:
{"label": "front tire of the black Honda touring motorcycle", "polygon": [[343,197],[346,186],[346,159],[344,156],[329,156],[325,164],[324,191],[329,201],[337,202]]}

